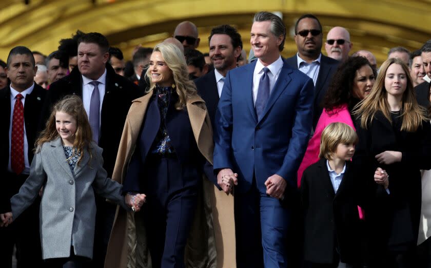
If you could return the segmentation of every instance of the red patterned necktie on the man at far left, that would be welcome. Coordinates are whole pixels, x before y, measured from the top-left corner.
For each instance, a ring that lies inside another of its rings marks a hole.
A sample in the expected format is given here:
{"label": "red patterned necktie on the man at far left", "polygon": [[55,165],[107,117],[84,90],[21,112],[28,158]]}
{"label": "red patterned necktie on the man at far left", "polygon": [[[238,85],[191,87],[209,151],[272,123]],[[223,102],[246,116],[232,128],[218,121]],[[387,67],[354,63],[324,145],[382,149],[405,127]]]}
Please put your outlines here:
{"label": "red patterned necktie on the man at far left", "polygon": [[24,170],[24,106],[21,99],[23,95],[17,94],[13,107],[12,137],[10,149],[10,163],[16,174]]}

